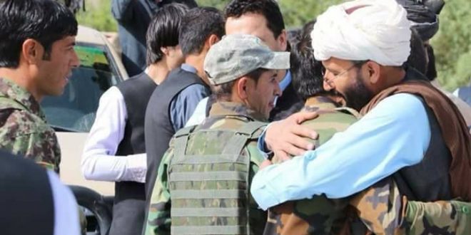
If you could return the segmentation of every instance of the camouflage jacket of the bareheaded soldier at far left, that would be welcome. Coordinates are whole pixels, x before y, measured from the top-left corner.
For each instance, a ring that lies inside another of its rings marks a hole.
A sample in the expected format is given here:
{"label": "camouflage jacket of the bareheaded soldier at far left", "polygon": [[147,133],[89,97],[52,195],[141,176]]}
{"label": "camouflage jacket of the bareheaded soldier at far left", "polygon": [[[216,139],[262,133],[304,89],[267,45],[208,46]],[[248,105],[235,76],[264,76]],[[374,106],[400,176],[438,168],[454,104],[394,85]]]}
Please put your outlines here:
{"label": "camouflage jacket of the bareheaded soldier at far left", "polygon": [[0,78],[0,148],[59,172],[59,142],[41,106],[31,93],[5,78]]}

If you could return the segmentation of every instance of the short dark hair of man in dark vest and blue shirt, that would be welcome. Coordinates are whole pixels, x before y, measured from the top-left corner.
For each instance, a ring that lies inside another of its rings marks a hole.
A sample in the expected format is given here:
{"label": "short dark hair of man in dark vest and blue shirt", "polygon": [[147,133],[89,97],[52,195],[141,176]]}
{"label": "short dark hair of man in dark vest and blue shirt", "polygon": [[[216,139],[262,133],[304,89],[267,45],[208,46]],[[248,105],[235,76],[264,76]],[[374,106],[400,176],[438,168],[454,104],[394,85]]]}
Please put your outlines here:
{"label": "short dark hair of man in dark vest and blue shirt", "polygon": [[183,16],[178,41],[183,56],[198,54],[211,35],[224,36],[224,18],[216,8],[198,7]]}

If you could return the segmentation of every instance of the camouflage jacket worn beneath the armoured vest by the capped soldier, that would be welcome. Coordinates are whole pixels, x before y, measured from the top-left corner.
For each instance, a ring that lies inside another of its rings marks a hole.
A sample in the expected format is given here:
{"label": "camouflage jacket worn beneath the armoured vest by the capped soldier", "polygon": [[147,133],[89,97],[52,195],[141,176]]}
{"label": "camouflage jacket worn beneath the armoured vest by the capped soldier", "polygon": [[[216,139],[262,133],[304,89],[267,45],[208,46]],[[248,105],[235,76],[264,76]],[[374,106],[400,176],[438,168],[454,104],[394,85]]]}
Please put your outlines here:
{"label": "camouflage jacket worn beneath the armoured vest by the capped soldier", "polygon": [[[198,132],[198,130],[206,129],[238,130],[238,128],[242,127],[242,125],[250,119],[265,121],[261,115],[253,112],[253,110],[248,110],[243,105],[218,102],[213,104],[209,117],[206,118],[201,125],[198,125],[193,133]],[[263,130],[259,131],[261,133]],[[165,155],[163,155],[161,164],[158,167],[157,179],[153,186],[151,203],[148,207],[145,234],[170,234],[171,190],[168,188],[168,167],[175,151],[174,140],[175,139],[171,140],[170,147]],[[215,147],[225,144],[218,140],[218,136],[215,136],[215,139],[212,140],[211,143],[214,144],[211,146]],[[198,140],[195,140],[195,138],[188,140],[187,146],[191,149],[187,149],[187,151],[206,152],[211,149],[211,146],[199,146]],[[258,171],[258,166],[263,162],[264,158],[257,148],[256,140],[248,142],[248,144],[245,145],[244,152],[250,156],[249,182],[251,182],[253,175]],[[250,185],[248,188],[250,188]],[[261,234],[265,226],[266,213],[258,209],[258,205],[253,198],[250,197],[249,200],[250,229],[253,229],[253,234]]]}

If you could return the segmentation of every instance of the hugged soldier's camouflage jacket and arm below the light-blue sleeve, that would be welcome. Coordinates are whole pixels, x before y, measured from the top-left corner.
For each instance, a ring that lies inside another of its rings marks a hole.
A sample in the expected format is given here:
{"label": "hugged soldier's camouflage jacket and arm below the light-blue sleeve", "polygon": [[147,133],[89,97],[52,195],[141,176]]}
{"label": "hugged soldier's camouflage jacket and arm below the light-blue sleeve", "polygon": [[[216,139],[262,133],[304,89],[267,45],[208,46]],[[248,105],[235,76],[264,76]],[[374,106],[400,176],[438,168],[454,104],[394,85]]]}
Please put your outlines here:
{"label": "hugged soldier's camouflage jacket and arm below the light-blue sleeve", "polygon": [[471,234],[470,211],[470,202],[458,200],[407,201],[386,178],[350,199],[315,196],[274,207],[264,234]]}

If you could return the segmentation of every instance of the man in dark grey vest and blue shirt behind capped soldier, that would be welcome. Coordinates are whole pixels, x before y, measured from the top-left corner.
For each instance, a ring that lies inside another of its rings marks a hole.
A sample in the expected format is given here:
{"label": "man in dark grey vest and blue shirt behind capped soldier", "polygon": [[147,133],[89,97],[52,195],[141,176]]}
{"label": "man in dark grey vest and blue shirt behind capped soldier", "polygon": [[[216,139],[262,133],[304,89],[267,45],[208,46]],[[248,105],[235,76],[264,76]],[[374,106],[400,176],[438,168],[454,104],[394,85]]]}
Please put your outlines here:
{"label": "man in dark grey vest and blue shirt behind capped soldier", "polygon": [[146,109],[147,201],[168,142],[185,126],[198,102],[211,93],[203,62],[209,48],[224,34],[223,16],[213,8],[191,9],[181,25],[178,41],[185,63],[154,90]]}

